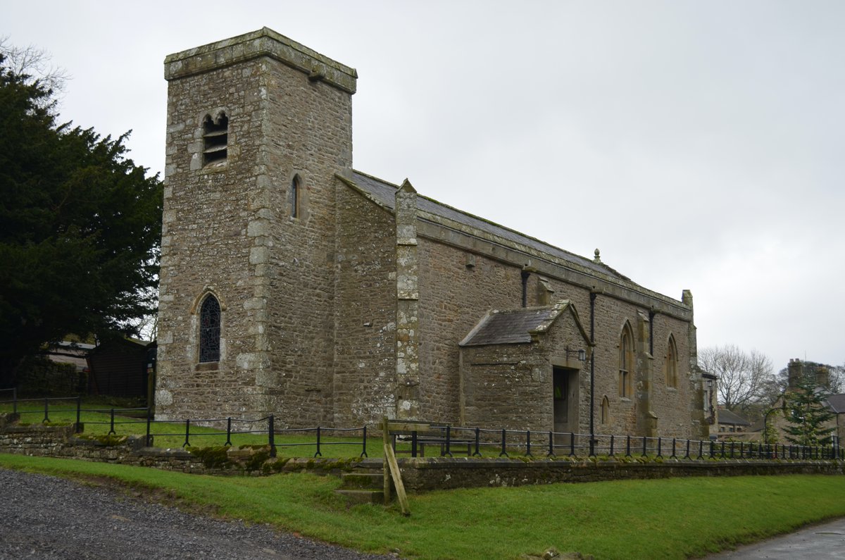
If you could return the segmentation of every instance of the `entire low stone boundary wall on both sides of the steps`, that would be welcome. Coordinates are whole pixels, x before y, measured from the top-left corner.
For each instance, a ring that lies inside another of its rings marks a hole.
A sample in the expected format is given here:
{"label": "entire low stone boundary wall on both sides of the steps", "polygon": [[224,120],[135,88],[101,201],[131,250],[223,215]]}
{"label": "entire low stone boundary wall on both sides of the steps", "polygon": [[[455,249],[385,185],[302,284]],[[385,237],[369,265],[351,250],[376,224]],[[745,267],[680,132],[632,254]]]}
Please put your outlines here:
{"label": "entire low stone boundary wall on both sides of the steps", "polygon": [[[0,452],[132,464],[204,475],[271,475],[308,471],[340,475],[378,470],[380,458],[270,458],[270,447],[144,447],[135,436],[81,436],[74,426],[18,425],[0,415]],[[644,480],[673,476],[843,475],[845,462],[822,460],[570,458],[400,458],[407,491],[483,486],[527,486],[556,482]]]}

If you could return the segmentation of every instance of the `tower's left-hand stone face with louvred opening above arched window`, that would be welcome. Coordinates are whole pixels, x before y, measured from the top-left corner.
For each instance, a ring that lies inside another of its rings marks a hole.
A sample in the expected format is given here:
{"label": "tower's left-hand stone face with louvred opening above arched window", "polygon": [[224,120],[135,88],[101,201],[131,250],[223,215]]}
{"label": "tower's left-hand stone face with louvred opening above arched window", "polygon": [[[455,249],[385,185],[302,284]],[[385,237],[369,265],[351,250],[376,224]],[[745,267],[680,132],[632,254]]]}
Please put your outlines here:
{"label": "tower's left-hand stone face with louvred opening above arched window", "polygon": [[[255,154],[261,139],[257,61],[173,80],[168,87],[164,221],[156,413],[204,417],[256,415],[250,357],[258,353],[255,310],[260,288],[250,259],[248,225],[258,195]],[[240,85],[230,91],[232,83]],[[202,121],[229,118],[226,162],[202,167]],[[207,291],[221,304],[221,359],[198,367],[199,302]]]}

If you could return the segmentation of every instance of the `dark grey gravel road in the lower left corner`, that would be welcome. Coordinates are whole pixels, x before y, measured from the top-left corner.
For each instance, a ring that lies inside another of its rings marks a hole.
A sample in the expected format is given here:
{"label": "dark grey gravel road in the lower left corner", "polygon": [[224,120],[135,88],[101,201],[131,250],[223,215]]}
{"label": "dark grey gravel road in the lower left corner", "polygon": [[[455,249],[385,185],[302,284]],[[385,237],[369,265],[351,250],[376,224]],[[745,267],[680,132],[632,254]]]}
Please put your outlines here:
{"label": "dark grey gravel road in the lower left corner", "polygon": [[106,487],[0,469],[0,560],[392,558],[143,502]]}

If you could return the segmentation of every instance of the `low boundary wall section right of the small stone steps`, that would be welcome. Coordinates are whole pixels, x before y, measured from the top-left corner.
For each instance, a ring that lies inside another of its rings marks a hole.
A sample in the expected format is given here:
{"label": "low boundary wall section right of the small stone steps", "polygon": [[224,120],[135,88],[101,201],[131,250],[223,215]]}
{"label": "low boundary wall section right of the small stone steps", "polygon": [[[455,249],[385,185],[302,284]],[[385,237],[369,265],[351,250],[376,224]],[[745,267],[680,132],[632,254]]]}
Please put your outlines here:
{"label": "low boundary wall section right of the small stone steps", "polygon": [[675,476],[843,475],[842,461],[751,461],[740,459],[641,462],[637,459],[523,460],[520,458],[403,458],[408,491],[481,486],[527,486],[555,482],[645,480]]}

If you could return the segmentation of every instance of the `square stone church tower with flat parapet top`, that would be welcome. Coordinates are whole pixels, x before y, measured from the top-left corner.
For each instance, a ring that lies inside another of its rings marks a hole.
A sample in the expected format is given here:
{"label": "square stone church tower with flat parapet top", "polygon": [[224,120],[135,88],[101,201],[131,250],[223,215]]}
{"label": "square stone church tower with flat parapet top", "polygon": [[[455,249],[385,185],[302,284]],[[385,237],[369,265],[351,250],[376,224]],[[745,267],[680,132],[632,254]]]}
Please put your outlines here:
{"label": "square stone church tower with flat parapet top", "polygon": [[165,59],[157,418],[331,416],[355,69],[264,28]]}

